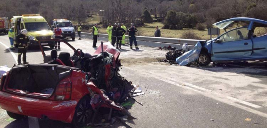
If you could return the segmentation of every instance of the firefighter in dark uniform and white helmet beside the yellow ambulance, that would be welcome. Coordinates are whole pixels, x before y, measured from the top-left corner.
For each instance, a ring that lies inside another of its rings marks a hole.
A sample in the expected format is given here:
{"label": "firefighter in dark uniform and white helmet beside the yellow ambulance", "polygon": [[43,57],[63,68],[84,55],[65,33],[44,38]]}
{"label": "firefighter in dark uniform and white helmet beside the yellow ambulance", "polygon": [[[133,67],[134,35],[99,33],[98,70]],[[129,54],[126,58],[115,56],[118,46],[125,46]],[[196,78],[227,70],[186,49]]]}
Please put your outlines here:
{"label": "firefighter in dark uniform and white helmet beside the yellow ambulance", "polygon": [[21,30],[21,33],[16,37],[18,43],[18,65],[21,65],[21,55],[23,54],[23,64],[28,64],[26,61],[27,47],[29,46],[29,39],[27,36],[27,29]]}

